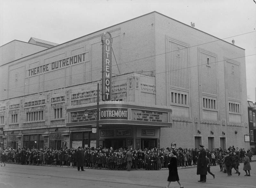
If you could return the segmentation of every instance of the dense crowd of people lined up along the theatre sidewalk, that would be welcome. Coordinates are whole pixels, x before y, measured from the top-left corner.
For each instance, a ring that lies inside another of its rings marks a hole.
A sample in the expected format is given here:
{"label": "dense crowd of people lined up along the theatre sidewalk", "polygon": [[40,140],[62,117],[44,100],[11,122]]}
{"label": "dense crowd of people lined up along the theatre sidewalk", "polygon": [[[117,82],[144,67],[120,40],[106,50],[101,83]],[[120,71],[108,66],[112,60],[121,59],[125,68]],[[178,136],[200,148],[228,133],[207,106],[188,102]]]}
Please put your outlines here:
{"label": "dense crowd of people lined up along the theatre sidewalk", "polygon": [[[51,165],[51,166],[71,166],[77,167],[78,151],[75,148],[18,148],[12,149],[0,148],[1,161],[5,163],[16,163],[23,165]],[[83,167],[93,169],[108,169],[108,170],[127,170],[127,156],[130,151],[131,169],[144,170],[160,170],[168,168],[168,163],[171,159],[170,152],[177,156],[177,167],[186,167],[197,165],[200,150],[198,148],[145,148],[142,149],[127,149],[127,148],[80,148],[82,153]],[[248,149],[238,149],[229,147],[222,150],[221,148],[206,149],[206,156],[209,159],[209,165],[220,165],[220,170],[227,172],[229,164],[225,162],[227,155],[235,158],[237,167],[239,162],[244,161],[245,155],[248,154],[249,159],[252,158],[252,151]],[[4,155],[4,156],[2,156]],[[233,158],[231,159],[233,161]],[[233,162],[232,162],[233,163]],[[229,171],[228,171],[229,175]]]}

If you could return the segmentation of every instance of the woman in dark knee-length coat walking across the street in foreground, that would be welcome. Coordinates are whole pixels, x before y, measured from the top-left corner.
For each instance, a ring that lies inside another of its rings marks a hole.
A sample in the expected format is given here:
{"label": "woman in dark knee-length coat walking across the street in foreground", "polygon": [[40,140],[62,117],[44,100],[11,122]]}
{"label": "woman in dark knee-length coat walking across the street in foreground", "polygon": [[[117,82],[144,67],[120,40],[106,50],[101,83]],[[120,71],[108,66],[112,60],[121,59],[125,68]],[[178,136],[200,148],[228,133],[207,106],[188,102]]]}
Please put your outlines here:
{"label": "woman in dark knee-length coat walking across the street in foreground", "polygon": [[169,168],[169,176],[168,176],[168,184],[165,188],[168,188],[171,182],[175,182],[177,181],[178,184],[180,185],[180,188],[184,188],[181,184],[180,184],[180,179],[179,179],[179,175],[178,175],[178,169],[177,169],[177,156],[174,155],[171,151],[170,153],[170,162],[168,164],[168,168]]}

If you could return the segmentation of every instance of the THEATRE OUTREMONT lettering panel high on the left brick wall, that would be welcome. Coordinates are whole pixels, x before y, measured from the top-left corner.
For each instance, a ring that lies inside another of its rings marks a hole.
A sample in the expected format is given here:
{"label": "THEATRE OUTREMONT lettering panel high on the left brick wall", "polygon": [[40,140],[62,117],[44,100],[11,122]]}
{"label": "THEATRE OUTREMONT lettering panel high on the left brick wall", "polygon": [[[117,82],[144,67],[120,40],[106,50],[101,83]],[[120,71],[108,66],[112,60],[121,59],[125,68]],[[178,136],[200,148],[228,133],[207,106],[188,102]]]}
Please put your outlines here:
{"label": "THEATRE OUTREMONT lettering panel high on the left brick wall", "polygon": [[60,59],[58,61],[53,61],[51,63],[47,63],[44,65],[40,65],[40,66],[31,68],[31,69],[28,69],[27,70],[28,76],[35,76],[35,75],[49,72],[52,70],[68,67],[73,64],[82,63],[82,62],[86,61],[86,59],[85,59],[86,53],[87,52],[84,52],[82,54],[73,55],[73,56],[70,56],[70,57],[67,57],[64,59]]}

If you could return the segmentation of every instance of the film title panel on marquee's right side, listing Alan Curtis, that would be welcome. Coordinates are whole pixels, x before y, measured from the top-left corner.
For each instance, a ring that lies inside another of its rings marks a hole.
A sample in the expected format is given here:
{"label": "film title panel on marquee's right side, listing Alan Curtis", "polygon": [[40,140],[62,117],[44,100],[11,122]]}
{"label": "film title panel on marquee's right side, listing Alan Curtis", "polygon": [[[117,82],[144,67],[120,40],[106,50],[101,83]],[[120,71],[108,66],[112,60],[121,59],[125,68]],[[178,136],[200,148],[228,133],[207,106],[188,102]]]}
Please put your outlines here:
{"label": "film title panel on marquee's right side, listing Alan Curtis", "polygon": [[147,110],[133,110],[132,120],[135,121],[152,121],[152,122],[168,122],[167,112],[155,112]]}

